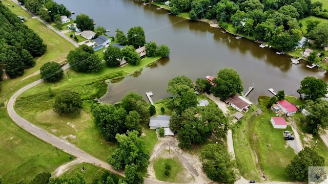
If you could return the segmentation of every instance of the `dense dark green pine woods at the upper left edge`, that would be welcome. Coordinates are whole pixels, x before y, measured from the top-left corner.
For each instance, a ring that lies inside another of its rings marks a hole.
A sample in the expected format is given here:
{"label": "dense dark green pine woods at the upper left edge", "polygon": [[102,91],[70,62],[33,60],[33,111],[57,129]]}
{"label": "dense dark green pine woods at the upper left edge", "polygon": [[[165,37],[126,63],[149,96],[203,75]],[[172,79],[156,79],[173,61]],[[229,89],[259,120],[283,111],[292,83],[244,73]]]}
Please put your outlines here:
{"label": "dense dark green pine woods at the upper left edge", "polygon": [[22,76],[35,65],[33,57],[42,56],[47,45],[7,7],[0,4],[0,65],[10,78]]}

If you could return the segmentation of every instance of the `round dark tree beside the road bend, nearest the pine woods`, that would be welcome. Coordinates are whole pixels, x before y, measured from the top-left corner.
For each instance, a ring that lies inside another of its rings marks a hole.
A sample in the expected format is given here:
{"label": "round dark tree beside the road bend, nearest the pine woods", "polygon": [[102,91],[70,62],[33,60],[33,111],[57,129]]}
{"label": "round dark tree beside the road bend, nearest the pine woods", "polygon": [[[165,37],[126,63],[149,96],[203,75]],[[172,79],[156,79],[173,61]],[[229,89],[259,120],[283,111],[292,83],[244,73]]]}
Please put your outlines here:
{"label": "round dark tree beside the road bend, nearest the pine woods", "polygon": [[55,82],[63,77],[64,71],[59,63],[51,61],[40,67],[40,75],[46,81]]}

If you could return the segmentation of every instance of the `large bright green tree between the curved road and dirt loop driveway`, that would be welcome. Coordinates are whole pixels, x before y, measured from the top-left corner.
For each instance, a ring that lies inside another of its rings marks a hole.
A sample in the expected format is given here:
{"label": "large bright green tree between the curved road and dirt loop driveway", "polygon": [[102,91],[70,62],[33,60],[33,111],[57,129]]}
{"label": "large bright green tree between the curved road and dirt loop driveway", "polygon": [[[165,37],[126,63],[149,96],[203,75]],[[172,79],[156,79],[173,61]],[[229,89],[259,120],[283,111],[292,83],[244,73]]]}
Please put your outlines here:
{"label": "large bright green tree between the curved road and dirt loop driveway", "polygon": [[116,134],[118,147],[110,148],[109,164],[115,169],[122,169],[134,164],[138,169],[145,169],[149,165],[149,152],[145,141],[138,136],[137,131],[127,131],[126,134]]}

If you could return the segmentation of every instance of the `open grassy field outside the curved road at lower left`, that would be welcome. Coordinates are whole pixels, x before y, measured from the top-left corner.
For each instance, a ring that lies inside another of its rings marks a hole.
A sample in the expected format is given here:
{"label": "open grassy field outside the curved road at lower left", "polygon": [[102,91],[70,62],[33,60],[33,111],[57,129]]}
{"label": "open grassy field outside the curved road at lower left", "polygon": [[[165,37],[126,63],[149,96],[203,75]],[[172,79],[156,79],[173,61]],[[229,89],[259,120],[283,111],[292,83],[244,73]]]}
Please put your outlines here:
{"label": "open grassy field outside the curved road at lower left", "polygon": [[[4,183],[31,180],[39,172],[52,172],[69,162],[71,155],[37,139],[12,122],[5,107],[0,108],[0,175]],[[72,157],[72,159],[74,159]]]}

